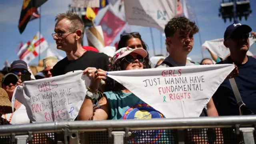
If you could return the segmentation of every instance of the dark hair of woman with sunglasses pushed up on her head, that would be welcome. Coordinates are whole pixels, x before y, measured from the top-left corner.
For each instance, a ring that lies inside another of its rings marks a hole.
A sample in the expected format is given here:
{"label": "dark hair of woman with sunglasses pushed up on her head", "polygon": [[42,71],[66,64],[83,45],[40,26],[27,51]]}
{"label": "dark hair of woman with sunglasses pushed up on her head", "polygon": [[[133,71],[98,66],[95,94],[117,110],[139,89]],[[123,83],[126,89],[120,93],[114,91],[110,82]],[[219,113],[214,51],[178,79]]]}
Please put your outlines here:
{"label": "dark hair of woman with sunglasses pushed up on her head", "polygon": [[[118,46],[117,49],[119,50],[120,48],[125,48],[127,46],[127,42],[128,40],[130,40],[131,38],[138,38],[142,44],[142,47],[144,50],[146,50],[148,52],[148,45],[141,39],[141,36],[138,32],[132,32],[129,34],[125,34],[125,35],[121,35],[120,37],[120,41],[118,42]],[[144,62],[143,62],[143,68],[151,68],[151,62],[149,60],[149,55],[146,56],[146,58],[144,58]]]}

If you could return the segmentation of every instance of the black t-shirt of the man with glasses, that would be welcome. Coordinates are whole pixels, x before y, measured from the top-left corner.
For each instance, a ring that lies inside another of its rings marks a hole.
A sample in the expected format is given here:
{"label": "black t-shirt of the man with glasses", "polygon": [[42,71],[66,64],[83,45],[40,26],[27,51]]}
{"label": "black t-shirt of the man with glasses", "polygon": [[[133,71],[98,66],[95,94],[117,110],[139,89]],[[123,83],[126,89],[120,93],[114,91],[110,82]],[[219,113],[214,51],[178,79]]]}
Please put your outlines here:
{"label": "black t-shirt of the man with glasses", "polygon": [[52,69],[52,76],[60,76],[75,70],[85,70],[88,67],[100,68],[108,71],[109,57],[104,53],[86,51],[76,60],[63,58]]}

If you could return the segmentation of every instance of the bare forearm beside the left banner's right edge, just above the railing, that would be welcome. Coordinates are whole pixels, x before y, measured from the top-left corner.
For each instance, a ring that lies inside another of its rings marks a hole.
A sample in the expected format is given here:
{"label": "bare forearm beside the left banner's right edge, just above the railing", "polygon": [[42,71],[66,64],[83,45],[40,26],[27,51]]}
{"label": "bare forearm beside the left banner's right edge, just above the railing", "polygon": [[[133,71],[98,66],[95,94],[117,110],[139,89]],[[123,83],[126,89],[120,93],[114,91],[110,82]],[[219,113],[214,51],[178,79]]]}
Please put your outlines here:
{"label": "bare forearm beside the left banner's right edge, just above the railing", "polygon": [[79,110],[77,120],[93,120],[93,101],[84,99],[84,102]]}

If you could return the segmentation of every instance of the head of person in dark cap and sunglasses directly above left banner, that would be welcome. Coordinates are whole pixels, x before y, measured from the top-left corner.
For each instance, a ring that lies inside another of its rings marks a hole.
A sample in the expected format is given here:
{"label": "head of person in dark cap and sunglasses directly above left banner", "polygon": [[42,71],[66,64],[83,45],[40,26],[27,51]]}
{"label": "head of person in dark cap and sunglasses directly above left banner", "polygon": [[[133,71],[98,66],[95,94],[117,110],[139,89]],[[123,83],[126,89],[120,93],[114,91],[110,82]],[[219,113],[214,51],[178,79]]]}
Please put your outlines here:
{"label": "head of person in dark cap and sunglasses directly above left banner", "polygon": [[11,64],[10,72],[16,74],[20,79],[22,74],[28,72],[28,65],[23,60],[14,60]]}

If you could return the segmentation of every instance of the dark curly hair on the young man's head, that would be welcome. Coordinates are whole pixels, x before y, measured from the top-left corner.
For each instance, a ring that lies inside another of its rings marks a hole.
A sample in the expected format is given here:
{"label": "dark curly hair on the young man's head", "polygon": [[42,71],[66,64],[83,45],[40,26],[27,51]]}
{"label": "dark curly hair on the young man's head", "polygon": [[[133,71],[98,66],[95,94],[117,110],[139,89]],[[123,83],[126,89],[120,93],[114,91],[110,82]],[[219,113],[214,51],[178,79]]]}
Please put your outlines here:
{"label": "dark curly hair on the young man's head", "polygon": [[180,30],[183,34],[187,34],[190,31],[192,34],[199,32],[199,28],[196,26],[196,23],[190,21],[184,16],[174,17],[165,25],[164,33],[166,38],[173,36],[177,30]]}

